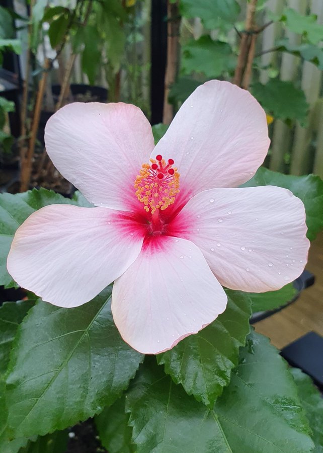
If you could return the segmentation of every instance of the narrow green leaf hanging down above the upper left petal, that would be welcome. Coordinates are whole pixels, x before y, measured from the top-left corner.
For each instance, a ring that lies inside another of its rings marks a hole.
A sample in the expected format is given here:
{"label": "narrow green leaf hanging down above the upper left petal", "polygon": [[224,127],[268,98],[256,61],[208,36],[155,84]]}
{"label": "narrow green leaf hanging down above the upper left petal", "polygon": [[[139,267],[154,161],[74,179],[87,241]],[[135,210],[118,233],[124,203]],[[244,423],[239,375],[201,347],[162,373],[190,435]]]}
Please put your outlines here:
{"label": "narrow green leaf hanging down above the upper left petal", "polygon": [[82,70],[87,74],[90,85],[94,85],[101,61],[102,39],[97,27],[87,25],[84,29],[84,51],[82,53]]}

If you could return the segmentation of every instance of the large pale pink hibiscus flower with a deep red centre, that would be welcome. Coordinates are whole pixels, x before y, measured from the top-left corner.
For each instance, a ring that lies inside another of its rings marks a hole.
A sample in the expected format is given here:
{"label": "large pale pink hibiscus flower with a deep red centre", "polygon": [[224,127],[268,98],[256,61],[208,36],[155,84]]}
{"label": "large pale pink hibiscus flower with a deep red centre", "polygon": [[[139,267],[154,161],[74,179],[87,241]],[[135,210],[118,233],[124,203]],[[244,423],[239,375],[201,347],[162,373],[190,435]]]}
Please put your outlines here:
{"label": "large pale pink hibiscus flower with a deep red centre", "polygon": [[47,152],[96,207],[50,205],[17,230],[8,270],[59,307],[114,281],[112,313],[142,353],[172,348],[225,310],[226,286],[279,289],[302,272],[302,202],[275,187],[238,188],[269,147],[266,114],[227,82],[198,87],[154,146],[141,110],[69,104],[48,121]]}

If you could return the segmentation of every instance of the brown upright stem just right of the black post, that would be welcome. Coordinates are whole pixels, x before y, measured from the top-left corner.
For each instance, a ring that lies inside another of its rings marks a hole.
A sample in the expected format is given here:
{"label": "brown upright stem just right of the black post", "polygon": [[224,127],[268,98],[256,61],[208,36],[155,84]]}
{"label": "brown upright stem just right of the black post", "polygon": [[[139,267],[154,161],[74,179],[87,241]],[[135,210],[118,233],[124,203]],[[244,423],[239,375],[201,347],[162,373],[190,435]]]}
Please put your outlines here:
{"label": "brown upright stem just right of the black post", "polygon": [[179,12],[179,0],[175,3],[167,2],[167,65],[165,73],[165,91],[164,91],[164,111],[163,123],[170,124],[174,117],[174,107],[169,104],[168,97],[170,87],[174,84],[178,72],[179,65],[179,31],[181,25],[181,16]]}

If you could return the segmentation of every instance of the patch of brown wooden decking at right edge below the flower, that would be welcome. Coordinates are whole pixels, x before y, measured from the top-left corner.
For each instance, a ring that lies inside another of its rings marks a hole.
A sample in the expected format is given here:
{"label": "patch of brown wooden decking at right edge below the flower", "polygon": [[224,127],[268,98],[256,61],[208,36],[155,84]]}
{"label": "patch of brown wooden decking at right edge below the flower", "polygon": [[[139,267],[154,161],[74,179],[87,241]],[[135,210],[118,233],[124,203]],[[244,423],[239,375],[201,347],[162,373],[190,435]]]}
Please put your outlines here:
{"label": "patch of brown wooden decking at right edge below the flower", "polygon": [[311,330],[323,336],[323,233],[311,245],[306,269],[315,275],[314,285],[291,306],[255,324],[279,349]]}

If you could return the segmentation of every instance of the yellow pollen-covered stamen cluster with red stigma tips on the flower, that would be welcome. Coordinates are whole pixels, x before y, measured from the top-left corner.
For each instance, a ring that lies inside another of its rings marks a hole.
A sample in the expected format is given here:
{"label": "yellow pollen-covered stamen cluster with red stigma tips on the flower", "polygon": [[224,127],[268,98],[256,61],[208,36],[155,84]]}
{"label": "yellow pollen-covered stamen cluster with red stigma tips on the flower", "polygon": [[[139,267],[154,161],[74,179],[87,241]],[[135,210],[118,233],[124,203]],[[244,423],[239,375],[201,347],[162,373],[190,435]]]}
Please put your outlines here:
{"label": "yellow pollen-covered stamen cluster with red stigma tips on the flower", "polygon": [[153,214],[156,209],[164,210],[175,201],[179,192],[180,174],[173,168],[174,161],[165,162],[158,154],[156,159],[150,159],[150,164],[142,164],[142,169],[136,177],[134,188],[144,209]]}

